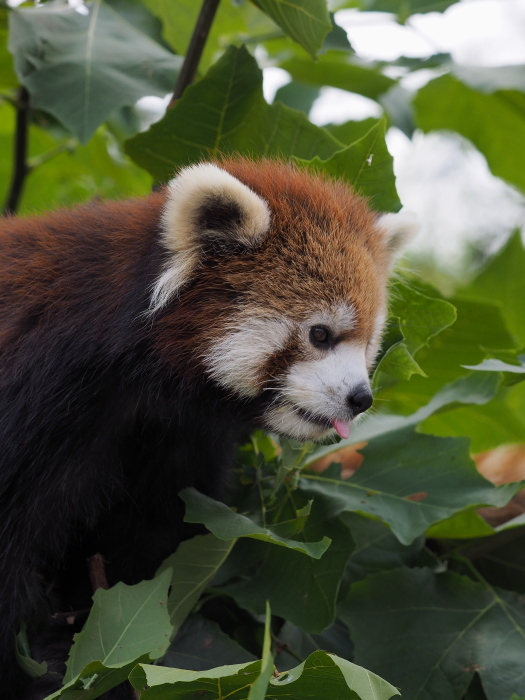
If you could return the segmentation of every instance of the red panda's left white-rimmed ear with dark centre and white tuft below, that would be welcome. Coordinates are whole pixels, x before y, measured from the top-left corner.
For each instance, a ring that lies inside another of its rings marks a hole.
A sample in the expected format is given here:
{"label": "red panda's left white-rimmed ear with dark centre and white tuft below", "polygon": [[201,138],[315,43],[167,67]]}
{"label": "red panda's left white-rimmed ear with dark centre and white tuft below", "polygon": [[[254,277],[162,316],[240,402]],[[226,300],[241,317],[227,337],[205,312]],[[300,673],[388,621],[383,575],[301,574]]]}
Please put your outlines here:
{"label": "red panda's left white-rimmed ear with dark centre and white tuft below", "polygon": [[251,247],[270,227],[267,203],[212,163],[184,168],[167,190],[161,236],[171,255],[153,288],[150,311],[160,309],[186,284],[206,243]]}

